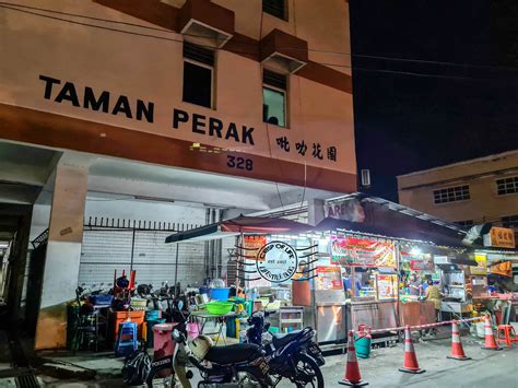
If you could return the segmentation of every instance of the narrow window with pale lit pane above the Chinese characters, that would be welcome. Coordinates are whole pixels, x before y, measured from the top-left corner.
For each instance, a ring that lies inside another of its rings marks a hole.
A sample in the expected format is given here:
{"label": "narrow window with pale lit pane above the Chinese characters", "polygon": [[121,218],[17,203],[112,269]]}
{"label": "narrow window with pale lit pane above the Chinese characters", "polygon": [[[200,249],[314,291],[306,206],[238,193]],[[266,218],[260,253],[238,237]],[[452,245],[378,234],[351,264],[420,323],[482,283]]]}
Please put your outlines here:
{"label": "narrow window with pale lit pane above the Chinese characters", "polygon": [[286,77],[262,72],[262,121],[286,127]]}

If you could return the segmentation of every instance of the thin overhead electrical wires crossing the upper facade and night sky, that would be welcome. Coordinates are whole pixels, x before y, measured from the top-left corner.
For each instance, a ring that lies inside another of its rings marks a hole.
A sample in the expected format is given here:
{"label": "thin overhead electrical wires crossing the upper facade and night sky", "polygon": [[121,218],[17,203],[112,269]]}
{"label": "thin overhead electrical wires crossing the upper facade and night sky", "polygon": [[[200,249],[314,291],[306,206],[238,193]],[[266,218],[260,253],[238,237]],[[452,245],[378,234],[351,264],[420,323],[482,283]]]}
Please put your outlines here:
{"label": "thin overhead electrical wires crossing the upper facade and night sky", "polygon": [[[174,31],[170,31],[170,30],[152,27],[152,26],[146,26],[146,25],[143,25],[143,24],[120,22],[120,21],[114,21],[114,20],[108,20],[108,19],[103,19],[103,17],[87,16],[87,15],[81,15],[81,14],[75,14],[75,13],[70,13],[70,12],[49,10],[49,9],[44,9],[44,8],[31,7],[31,5],[11,3],[11,2],[4,2],[4,1],[0,1],[0,8],[13,10],[13,11],[19,11],[19,12],[25,12],[25,13],[33,14],[33,15],[38,15],[38,16],[42,16],[42,17],[48,17],[48,19],[59,20],[59,21],[63,21],[63,22],[69,22],[69,23],[72,23],[72,24],[92,26],[92,27],[96,27],[96,28],[103,28],[103,30],[108,30],[108,31],[114,31],[114,32],[127,33],[127,34],[131,34],[131,35],[138,35],[138,36],[144,36],[144,37],[151,37],[151,38],[157,38],[157,39],[170,40],[170,42],[178,42],[178,43],[184,43],[184,40],[183,39],[173,39],[173,38],[167,38],[167,37],[162,37],[162,36],[156,36],[156,35],[150,35],[150,34],[136,33],[136,32],[130,32],[130,31],[125,31],[125,30],[105,27],[105,26],[99,26],[99,25],[95,25],[95,24],[82,23],[82,22],[71,21],[71,20],[67,20],[67,19],[50,16],[50,15],[46,15],[46,14],[42,14],[42,13],[37,13],[37,12],[31,12],[31,11],[26,11],[26,10],[43,11],[43,12],[55,13],[55,14],[59,14],[59,15],[81,17],[81,19],[98,21],[98,22],[105,22],[105,23],[111,23],[111,24],[127,25],[127,26],[144,28],[144,30],[150,30],[150,31],[156,31],[156,32],[162,32],[162,33],[167,33],[167,34],[185,35],[185,36],[201,37],[201,38],[212,38],[212,39],[222,40],[222,42],[227,39],[226,37],[219,38],[219,37],[209,36],[209,35],[198,35],[198,34],[187,34],[187,33],[179,34],[179,33],[175,33]],[[26,10],[23,10],[23,9],[26,9]],[[262,16],[262,13],[261,13],[261,16]],[[260,36],[262,36],[262,35],[260,35]],[[244,45],[244,46],[249,46],[249,47],[257,48],[257,45],[250,44],[249,40],[244,40],[244,39],[239,39],[239,38],[236,38],[236,37],[233,37],[233,40],[236,42],[236,43],[239,43],[242,46]],[[208,48],[213,48],[212,46],[203,46],[203,45],[200,45],[200,46],[208,47]],[[282,46],[282,47],[279,47],[279,48],[290,49],[290,50],[322,52],[322,54],[330,54],[330,55],[340,55],[340,56],[348,56],[348,57],[367,58],[367,59],[381,59],[381,60],[387,60],[387,61],[429,63],[429,64],[436,64],[436,66],[440,64],[440,66],[476,68],[476,69],[518,70],[518,68],[506,68],[506,67],[495,67],[495,66],[487,66],[487,64],[473,64],[473,63],[448,62],[448,61],[431,61],[431,60],[415,59],[415,58],[397,58],[397,57],[373,56],[373,55],[365,55],[365,54],[351,54],[351,52],[323,50],[323,49],[315,49],[315,48],[301,48],[301,47],[291,47],[291,46]],[[254,51],[233,50],[233,52],[256,55],[257,50],[254,50]],[[322,63],[322,62],[316,62],[316,63],[322,64],[322,66],[332,66],[332,67],[352,69],[351,66],[341,64],[341,63]],[[356,69],[356,67],[354,67],[354,69]]]}

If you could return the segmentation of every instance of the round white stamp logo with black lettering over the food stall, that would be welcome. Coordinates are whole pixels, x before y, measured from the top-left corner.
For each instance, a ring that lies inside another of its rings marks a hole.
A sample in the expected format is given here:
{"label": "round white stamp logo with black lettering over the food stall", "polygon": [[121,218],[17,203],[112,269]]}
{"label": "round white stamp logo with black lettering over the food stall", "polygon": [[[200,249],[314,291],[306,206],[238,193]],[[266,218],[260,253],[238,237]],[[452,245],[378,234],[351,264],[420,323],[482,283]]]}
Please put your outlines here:
{"label": "round white stamp logo with black lettering over the food stall", "polygon": [[281,283],[292,279],[297,271],[297,252],[286,243],[271,242],[259,250],[256,262],[263,279]]}

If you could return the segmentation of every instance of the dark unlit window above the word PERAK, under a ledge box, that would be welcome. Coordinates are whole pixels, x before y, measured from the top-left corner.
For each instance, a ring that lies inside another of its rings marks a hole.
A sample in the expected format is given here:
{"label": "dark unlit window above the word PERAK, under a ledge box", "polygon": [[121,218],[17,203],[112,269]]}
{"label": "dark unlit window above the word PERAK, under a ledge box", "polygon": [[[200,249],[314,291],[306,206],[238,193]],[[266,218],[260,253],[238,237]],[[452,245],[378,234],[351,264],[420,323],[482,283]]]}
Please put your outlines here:
{"label": "dark unlit window above the word PERAK, under a ledge box", "polygon": [[214,51],[184,43],[184,102],[212,108]]}

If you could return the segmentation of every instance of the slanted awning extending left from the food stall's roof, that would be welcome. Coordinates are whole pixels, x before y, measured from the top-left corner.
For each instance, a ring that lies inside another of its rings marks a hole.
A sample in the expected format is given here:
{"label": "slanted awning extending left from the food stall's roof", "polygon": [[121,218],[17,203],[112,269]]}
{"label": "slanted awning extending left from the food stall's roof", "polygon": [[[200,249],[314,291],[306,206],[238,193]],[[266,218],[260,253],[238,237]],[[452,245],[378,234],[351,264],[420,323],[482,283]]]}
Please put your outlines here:
{"label": "slanted awning extending left from the food stall's roof", "polygon": [[239,234],[298,234],[306,233],[311,226],[285,219],[266,219],[240,215],[236,219],[220,221],[190,231],[168,236],[166,243],[185,240],[205,242],[211,239],[237,236]]}

